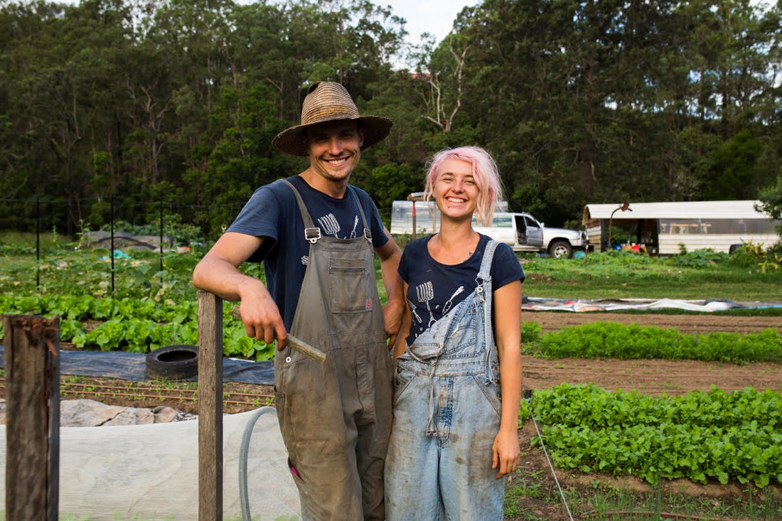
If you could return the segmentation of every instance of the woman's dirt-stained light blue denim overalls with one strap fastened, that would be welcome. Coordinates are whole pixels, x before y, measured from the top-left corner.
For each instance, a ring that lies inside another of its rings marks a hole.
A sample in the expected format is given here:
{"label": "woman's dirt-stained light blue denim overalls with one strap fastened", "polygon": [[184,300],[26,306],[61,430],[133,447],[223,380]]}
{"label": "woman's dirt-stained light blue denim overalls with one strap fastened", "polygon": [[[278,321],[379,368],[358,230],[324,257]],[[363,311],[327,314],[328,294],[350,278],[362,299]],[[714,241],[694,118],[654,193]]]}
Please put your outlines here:
{"label": "woman's dirt-stained light blue denim overalls with one strap fastened", "polygon": [[499,358],[491,322],[491,261],[477,287],[397,359],[386,457],[386,519],[502,519],[492,469],[500,429]]}

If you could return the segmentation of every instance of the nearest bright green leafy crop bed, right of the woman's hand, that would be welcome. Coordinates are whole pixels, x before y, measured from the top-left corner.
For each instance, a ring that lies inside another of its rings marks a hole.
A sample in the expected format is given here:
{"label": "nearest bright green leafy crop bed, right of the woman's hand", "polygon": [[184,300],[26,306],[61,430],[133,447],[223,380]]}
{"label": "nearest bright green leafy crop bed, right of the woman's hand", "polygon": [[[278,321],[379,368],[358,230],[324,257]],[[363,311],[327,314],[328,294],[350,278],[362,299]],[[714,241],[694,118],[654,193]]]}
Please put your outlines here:
{"label": "nearest bright green leafy crop bed, right of the woman's hand", "polygon": [[712,387],[655,398],[561,384],[536,391],[532,405],[543,441],[563,469],[640,476],[650,483],[782,483],[780,393]]}

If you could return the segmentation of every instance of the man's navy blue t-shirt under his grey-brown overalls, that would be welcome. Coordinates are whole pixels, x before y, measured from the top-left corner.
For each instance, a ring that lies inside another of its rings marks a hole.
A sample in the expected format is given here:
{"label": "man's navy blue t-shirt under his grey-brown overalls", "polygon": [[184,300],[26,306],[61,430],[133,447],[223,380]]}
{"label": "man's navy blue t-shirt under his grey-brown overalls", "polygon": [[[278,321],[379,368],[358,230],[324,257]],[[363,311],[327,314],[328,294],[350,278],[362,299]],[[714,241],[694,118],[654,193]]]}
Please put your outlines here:
{"label": "man's navy blue t-shirt under his grey-brown overalls", "polygon": [[[287,181],[301,194],[322,235],[353,239],[364,234],[361,214],[350,189],[343,199],[335,199],[307,185],[307,181],[298,175]],[[388,238],[375,203],[364,190],[353,189],[367,217],[372,246],[383,246]],[[310,254],[310,243],[304,239],[304,221],[293,191],[279,180],[261,186],[239,212],[228,232],[264,237],[264,244],[248,260],[264,261],[267,288],[279,307],[285,328],[290,329]]]}

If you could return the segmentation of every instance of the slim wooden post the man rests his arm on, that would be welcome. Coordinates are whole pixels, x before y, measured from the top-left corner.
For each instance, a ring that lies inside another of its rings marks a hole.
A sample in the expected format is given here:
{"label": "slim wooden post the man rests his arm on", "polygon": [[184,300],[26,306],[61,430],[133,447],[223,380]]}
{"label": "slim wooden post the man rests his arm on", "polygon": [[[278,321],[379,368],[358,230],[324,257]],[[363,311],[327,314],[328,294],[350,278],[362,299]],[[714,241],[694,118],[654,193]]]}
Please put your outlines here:
{"label": "slim wooden post the man rests his arm on", "polygon": [[198,292],[199,521],[223,519],[223,300]]}

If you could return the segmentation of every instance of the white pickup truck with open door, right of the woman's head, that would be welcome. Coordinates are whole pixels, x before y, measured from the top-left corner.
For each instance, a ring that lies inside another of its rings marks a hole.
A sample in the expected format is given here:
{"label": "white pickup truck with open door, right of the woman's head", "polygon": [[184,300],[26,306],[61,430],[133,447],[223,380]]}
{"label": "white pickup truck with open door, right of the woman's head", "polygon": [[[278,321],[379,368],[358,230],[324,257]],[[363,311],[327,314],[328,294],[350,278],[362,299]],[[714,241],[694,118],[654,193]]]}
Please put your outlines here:
{"label": "white pickup truck with open door, right of the woman's head", "polygon": [[551,257],[572,257],[574,250],[589,246],[587,232],[565,228],[547,228],[526,212],[495,212],[490,227],[472,223],[476,232],[489,235],[500,243],[509,244],[514,251],[548,253]]}

